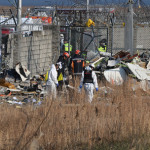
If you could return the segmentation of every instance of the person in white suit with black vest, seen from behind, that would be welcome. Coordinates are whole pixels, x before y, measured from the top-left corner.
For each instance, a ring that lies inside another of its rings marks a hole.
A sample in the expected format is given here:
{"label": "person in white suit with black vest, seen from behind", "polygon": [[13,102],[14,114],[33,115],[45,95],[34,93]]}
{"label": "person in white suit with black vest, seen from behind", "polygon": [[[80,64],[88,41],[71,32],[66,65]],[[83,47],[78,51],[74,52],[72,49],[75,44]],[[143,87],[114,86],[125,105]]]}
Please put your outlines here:
{"label": "person in white suit with black vest, seen from behind", "polygon": [[93,99],[94,87],[98,91],[97,76],[93,71],[94,65],[87,66],[82,72],[79,89],[84,85],[86,99],[91,103]]}

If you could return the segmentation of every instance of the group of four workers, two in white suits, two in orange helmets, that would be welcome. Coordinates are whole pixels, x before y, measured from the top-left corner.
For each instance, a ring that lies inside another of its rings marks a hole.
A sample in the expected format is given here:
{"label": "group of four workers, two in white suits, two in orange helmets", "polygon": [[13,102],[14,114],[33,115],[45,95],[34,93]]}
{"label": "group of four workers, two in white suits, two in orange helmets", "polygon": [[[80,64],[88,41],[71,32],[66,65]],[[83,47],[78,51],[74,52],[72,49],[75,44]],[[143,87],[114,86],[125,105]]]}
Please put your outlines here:
{"label": "group of four workers, two in white suits, two in orange helmets", "polygon": [[72,75],[73,80],[80,79],[79,91],[84,86],[86,99],[92,102],[94,87],[98,91],[97,77],[93,69],[93,65],[85,66],[80,50],[76,50],[72,58],[67,51],[64,51],[47,73],[46,90],[56,99],[57,89],[63,90],[63,85],[69,84],[69,75]]}

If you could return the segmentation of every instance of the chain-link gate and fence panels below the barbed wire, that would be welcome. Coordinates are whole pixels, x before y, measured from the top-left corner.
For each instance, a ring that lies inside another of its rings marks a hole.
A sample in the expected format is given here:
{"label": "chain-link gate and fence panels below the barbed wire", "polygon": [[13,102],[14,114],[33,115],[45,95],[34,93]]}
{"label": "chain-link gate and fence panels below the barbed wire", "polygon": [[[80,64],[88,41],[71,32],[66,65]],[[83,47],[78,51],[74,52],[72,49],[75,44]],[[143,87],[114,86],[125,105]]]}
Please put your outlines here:
{"label": "chain-link gate and fence panels below the barbed wire", "polygon": [[[65,28],[67,30],[67,27]],[[93,51],[96,52],[99,48],[99,42],[102,39],[107,40],[107,52],[113,51],[113,53],[125,50],[126,40],[126,28],[122,24],[114,25],[112,27],[92,27],[90,28],[71,28],[71,45],[73,46],[72,51],[76,49],[81,51]],[[68,40],[68,33],[65,33],[65,39]],[[134,51],[136,50],[150,50],[150,26],[134,26]],[[113,37],[113,38],[112,38]]]}

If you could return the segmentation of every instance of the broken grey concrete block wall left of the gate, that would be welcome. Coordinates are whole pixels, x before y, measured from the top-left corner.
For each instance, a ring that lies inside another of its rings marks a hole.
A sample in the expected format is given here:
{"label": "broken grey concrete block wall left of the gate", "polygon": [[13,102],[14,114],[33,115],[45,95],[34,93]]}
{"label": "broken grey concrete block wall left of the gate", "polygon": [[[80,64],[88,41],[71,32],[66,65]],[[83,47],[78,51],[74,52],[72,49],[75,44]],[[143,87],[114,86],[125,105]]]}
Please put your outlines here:
{"label": "broken grey concrete block wall left of the gate", "polygon": [[57,26],[48,26],[44,31],[34,31],[30,37],[11,34],[7,49],[10,67],[21,62],[29,69],[31,76],[45,73],[60,54],[59,31]]}

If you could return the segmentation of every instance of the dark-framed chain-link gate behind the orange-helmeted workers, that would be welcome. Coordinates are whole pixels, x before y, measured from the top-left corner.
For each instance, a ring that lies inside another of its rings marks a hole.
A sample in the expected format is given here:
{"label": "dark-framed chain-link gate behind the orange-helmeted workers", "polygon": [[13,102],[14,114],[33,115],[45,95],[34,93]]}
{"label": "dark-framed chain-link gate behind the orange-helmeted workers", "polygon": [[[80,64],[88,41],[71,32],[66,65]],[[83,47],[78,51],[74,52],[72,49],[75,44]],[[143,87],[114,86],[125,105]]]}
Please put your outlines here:
{"label": "dark-framed chain-link gate behind the orange-helmeted workers", "polygon": [[[64,39],[69,40],[72,45],[72,52],[79,49],[81,51],[93,51],[96,52],[99,48],[99,41],[102,39],[108,40],[108,28],[86,28],[86,27],[72,27],[69,31],[69,27],[62,27],[64,29],[61,33],[64,34]],[[66,31],[66,32],[65,32]],[[69,37],[69,32],[71,32]]]}

